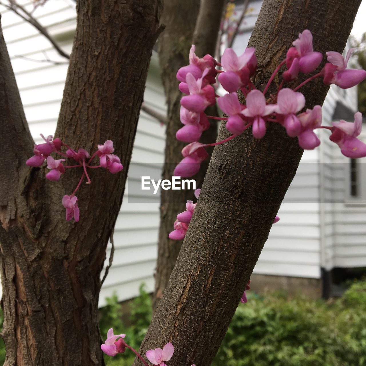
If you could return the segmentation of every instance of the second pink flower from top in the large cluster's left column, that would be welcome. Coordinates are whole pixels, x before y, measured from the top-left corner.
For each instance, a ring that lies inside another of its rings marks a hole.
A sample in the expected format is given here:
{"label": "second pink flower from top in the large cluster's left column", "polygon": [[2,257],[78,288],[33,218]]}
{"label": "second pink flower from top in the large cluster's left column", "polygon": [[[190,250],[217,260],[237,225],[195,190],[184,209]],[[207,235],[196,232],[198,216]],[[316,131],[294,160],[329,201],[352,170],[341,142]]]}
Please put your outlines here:
{"label": "second pink flower from top in the large cluster's left column", "polygon": [[215,90],[211,85],[202,86],[203,78],[206,76],[208,69],[203,71],[202,77],[195,79],[194,76],[188,72],[186,81],[190,95],[184,96],[180,100],[180,104],[188,111],[201,113],[209,105],[216,104]]}

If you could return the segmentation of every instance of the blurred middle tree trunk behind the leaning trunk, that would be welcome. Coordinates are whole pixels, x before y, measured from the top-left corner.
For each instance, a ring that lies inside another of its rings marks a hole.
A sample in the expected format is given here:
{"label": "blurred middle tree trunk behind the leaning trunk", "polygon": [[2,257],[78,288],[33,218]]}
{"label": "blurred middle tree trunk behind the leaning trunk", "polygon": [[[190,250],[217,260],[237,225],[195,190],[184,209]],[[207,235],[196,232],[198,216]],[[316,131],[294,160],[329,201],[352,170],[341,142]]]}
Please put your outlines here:
{"label": "blurred middle tree trunk behind the leaning trunk", "polygon": [[[176,79],[176,73],[180,67],[188,64],[188,50],[191,44],[197,45],[196,53],[200,57],[213,53],[215,50],[225,0],[215,0],[215,4],[211,4],[212,1],[209,5],[208,3],[207,0],[201,1],[201,5],[199,0],[172,0],[167,1],[164,6],[162,23],[165,25],[165,30],[158,43],[161,78],[168,106],[163,179],[171,179],[175,165],[182,160],[181,151],[187,145],[175,138],[175,133],[183,126],[179,118],[180,98],[183,94],[178,89],[179,81]],[[208,29],[210,33],[206,34]],[[193,31],[195,36],[193,36]],[[216,114],[211,109],[211,114],[213,113]],[[211,121],[211,127],[203,132],[200,141],[209,143],[215,141],[216,137],[217,122]],[[212,150],[210,152],[212,153]],[[208,161],[205,161],[201,171],[193,177],[196,180],[197,188],[202,186],[207,168]],[[185,210],[188,199],[195,199],[191,190],[162,190],[161,192],[153,309],[156,309],[163,296],[182,246],[183,240],[171,240],[168,235],[173,230],[177,214]]]}

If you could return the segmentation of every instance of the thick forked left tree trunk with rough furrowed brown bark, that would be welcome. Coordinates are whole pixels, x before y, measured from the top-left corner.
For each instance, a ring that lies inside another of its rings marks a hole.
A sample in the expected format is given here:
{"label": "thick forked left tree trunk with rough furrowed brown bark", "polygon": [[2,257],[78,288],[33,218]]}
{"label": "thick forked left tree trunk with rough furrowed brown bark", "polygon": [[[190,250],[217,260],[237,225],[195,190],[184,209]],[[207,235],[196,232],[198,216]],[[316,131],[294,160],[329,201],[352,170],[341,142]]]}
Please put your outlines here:
{"label": "thick forked left tree trunk with rough furrowed brown bark", "polygon": [[25,165],[33,141],[0,35],[0,270],[6,366],[102,365],[98,295],[105,249],[122,203],[160,0],[79,0],[78,25],[56,136],[95,151],[115,142],[124,170],[91,172],[81,220],[61,199],[81,171],[45,180]]}

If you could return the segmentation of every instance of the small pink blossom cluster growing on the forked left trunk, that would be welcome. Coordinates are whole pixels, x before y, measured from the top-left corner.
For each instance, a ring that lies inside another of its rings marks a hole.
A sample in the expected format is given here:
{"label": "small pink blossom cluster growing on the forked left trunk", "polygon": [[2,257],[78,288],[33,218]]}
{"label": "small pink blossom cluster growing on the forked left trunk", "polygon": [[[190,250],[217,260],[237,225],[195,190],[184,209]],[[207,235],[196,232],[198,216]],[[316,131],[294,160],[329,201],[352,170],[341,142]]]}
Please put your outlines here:
{"label": "small pink blossom cluster growing on the forked left trunk", "polygon": [[[74,192],[71,195],[64,195],[62,198],[62,205],[66,209],[66,220],[70,221],[74,218],[74,220],[78,222],[80,211],[78,207],[78,198],[75,196],[75,193],[85,177],[87,179],[86,184],[91,183],[87,169],[102,167],[112,174],[115,174],[123,169],[120,158],[117,155],[112,154],[114,148],[111,140],[105,141],[104,145],[98,145],[98,150],[89,159],[90,155],[85,149],[78,149],[76,152],[71,149],[71,147],[64,144],[59,138],[52,139],[52,136],[45,138],[42,134],[41,137],[45,142],[34,145],[34,155],[26,161],[27,165],[30,167],[40,167],[44,161],[47,160],[47,168],[51,170],[46,174],[46,178],[53,181],[60,179],[61,175],[65,173],[65,168],[83,168],[82,176]],[[62,146],[67,148],[66,153],[61,152]],[[51,156],[52,153],[59,154],[64,158],[55,160]],[[90,165],[95,156],[99,157],[100,165]],[[64,165],[63,162],[66,161],[67,158],[76,161],[76,165]],[[87,159],[89,160],[87,161]]]}

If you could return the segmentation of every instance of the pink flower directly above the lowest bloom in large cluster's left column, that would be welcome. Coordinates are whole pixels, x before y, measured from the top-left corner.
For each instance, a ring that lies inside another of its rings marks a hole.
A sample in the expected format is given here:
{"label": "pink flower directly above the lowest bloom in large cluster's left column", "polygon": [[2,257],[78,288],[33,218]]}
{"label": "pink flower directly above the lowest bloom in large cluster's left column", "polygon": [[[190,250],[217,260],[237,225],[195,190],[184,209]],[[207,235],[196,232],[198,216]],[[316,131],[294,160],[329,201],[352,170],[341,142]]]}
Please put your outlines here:
{"label": "pink flower directly above the lowest bloom in large cluster's left column", "polygon": [[185,126],[176,132],[175,137],[177,140],[183,142],[198,141],[202,132],[208,130],[210,127],[205,113],[191,112],[183,106],[180,107],[180,121]]}

